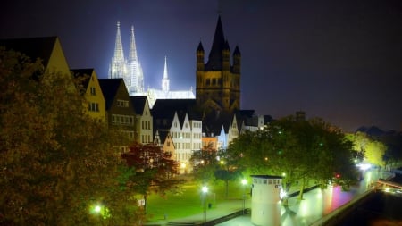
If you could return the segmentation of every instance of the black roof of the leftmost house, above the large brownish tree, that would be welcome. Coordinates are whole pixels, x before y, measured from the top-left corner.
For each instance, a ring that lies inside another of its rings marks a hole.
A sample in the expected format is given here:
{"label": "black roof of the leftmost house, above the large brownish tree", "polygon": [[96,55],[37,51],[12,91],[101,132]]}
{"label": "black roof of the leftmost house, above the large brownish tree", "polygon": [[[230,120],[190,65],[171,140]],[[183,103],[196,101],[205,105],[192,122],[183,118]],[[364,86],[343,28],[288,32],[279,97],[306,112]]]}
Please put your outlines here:
{"label": "black roof of the leftmost house, above the large brownish tree", "polygon": [[7,50],[26,54],[32,61],[39,58],[42,60],[42,64],[47,67],[56,40],[57,37],[3,39],[0,40],[0,46],[5,46]]}

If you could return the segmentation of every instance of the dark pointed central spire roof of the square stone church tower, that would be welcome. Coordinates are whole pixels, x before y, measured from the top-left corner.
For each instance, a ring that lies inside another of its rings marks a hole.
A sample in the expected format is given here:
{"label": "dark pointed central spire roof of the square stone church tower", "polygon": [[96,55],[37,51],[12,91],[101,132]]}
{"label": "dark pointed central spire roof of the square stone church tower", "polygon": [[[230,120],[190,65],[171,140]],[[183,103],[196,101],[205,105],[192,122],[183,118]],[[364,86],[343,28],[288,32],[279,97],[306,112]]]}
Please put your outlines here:
{"label": "dark pointed central spire roof of the square stone church tower", "polygon": [[229,46],[229,44],[225,41],[221,16],[219,16],[218,23],[216,24],[213,45],[208,57],[208,63],[205,64],[205,69],[207,71],[222,70],[222,50],[225,49],[225,46]]}

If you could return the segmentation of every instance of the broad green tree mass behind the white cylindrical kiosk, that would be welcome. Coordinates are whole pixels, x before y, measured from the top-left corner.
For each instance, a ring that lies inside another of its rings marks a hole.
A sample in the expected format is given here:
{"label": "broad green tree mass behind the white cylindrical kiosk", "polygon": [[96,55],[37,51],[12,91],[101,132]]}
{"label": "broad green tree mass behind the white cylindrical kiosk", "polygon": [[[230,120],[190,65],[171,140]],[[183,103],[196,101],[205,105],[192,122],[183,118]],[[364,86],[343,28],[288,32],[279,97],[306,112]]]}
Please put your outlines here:
{"label": "broad green tree mass behind the white cylindrical kiosk", "polygon": [[354,177],[350,142],[320,119],[296,121],[289,116],[272,121],[264,130],[241,134],[228,150],[239,157],[248,174],[283,176],[286,192],[300,181],[300,199],[306,180],[320,181],[325,187],[337,172],[344,175],[342,181]]}

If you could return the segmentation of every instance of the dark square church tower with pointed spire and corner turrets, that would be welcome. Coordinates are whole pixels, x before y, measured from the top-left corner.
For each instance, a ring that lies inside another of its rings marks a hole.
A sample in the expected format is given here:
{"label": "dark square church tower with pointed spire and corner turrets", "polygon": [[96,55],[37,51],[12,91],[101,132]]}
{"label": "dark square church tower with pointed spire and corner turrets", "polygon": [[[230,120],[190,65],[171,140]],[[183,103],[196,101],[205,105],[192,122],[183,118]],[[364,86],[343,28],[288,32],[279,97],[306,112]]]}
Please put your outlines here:
{"label": "dark square church tower with pointed spire and corner turrets", "polygon": [[224,38],[221,16],[215,29],[214,41],[207,63],[202,43],[197,47],[197,105],[215,111],[232,112],[240,108],[239,46],[235,47],[230,64],[230,46]]}

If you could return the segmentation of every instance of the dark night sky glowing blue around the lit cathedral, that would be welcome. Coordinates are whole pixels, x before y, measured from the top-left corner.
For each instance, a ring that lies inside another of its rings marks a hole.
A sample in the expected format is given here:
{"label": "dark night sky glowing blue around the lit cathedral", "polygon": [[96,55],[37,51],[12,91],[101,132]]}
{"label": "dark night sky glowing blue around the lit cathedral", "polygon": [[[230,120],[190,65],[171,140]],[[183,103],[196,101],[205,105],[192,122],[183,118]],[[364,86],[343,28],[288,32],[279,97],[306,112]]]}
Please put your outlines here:
{"label": "dark night sky glowing blue around the lit cathedral", "polygon": [[[274,118],[306,112],[345,131],[402,129],[402,1],[399,0],[6,0],[0,38],[58,36],[71,69],[107,78],[116,22],[126,57],[134,25],[145,86],[196,86],[218,12],[231,51],[242,54],[241,108]],[[195,91],[195,89],[194,89]]]}

